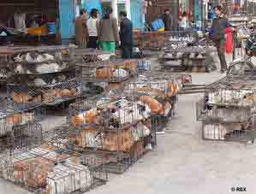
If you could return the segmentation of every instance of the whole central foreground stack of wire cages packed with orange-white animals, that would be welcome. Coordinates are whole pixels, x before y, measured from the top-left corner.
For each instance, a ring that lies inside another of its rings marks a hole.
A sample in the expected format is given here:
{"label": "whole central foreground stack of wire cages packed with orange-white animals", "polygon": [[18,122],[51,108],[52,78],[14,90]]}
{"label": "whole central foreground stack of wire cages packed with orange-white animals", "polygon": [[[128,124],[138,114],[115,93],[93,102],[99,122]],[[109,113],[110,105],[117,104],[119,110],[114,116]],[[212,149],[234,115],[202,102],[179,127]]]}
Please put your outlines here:
{"label": "whole central foreground stack of wire cages packed with orange-white animals", "polygon": [[104,154],[104,168],[123,173],[157,144],[149,107],[128,95],[90,97],[70,105],[74,150]]}

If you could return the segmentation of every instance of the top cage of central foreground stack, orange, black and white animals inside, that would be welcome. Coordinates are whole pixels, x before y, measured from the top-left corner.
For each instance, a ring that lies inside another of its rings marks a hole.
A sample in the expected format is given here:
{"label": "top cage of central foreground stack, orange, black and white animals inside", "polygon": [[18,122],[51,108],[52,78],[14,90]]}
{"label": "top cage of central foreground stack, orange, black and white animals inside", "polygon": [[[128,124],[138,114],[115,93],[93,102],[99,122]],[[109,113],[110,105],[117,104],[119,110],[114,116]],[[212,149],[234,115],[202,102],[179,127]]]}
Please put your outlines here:
{"label": "top cage of central foreground stack, orange, black and white animals inside", "polygon": [[101,125],[106,129],[122,129],[150,115],[148,106],[134,101],[133,97],[115,94],[87,97],[69,106],[68,123],[73,126]]}

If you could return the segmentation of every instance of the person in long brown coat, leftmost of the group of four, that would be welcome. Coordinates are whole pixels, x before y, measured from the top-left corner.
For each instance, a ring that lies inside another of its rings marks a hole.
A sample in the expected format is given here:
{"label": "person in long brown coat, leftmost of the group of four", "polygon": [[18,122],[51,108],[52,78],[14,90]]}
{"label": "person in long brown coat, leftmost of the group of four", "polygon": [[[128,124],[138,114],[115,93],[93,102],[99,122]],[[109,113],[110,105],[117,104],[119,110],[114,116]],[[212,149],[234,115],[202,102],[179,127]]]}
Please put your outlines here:
{"label": "person in long brown coat, leftmost of the group of four", "polygon": [[86,9],[80,9],[80,16],[74,21],[75,42],[79,48],[85,49],[88,40],[88,29],[86,26]]}

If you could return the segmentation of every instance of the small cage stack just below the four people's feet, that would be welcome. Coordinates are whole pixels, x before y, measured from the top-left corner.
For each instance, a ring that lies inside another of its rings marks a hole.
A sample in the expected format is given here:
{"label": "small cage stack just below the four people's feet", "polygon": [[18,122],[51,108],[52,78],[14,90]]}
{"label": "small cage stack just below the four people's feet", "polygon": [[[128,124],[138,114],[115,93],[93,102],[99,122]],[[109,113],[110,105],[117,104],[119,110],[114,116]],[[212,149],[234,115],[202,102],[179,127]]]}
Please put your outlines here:
{"label": "small cage stack just below the four people's feet", "polygon": [[88,91],[92,85],[101,86],[101,92],[94,94],[113,87],[122,87],[138,74],[137,60],[116,59],[110,56],[110,53],[99,50],[82,50],[82,52],[80,50],[75,53],[76,71],[81,73],[85,90]]}

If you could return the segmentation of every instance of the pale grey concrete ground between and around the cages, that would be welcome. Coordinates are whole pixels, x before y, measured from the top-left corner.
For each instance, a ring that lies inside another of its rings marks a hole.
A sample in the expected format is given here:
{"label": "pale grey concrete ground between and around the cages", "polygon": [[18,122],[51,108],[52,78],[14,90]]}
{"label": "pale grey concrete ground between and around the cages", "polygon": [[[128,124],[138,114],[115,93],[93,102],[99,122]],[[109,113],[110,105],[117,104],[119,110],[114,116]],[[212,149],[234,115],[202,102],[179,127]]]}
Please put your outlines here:
{"label": "pale grey concrete ground between and around the cages", "polygon": [[[193,73],[193,83],[211,83],[220,73]],[[91,194],[227,194],[231,187],[256,193],[256,146],[201,140],[195,103],[201,94],[180,96],[176,117],[158,147],[122,175],[110,175],[107,185]],[[52,118],[51,118],[52,119]],[[58,118],[63,122],[63,117]],[[53,118],[50,123],[55,123]],[[0,194],[27,191],[0,179]]]}

